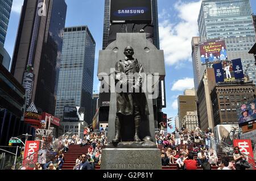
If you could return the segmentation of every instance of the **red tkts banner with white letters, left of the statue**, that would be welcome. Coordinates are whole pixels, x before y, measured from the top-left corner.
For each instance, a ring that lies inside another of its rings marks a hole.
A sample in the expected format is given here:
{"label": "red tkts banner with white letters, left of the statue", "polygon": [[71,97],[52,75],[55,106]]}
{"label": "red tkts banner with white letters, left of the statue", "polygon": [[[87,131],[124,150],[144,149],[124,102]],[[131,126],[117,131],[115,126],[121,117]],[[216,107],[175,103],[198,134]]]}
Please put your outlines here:
{"label": "red tkts banner with white letters, left of the statue", "polygon": [[35,163],[38,162],[38,151],[40,149],[40,141],[26,141],[24,150],[24,160],[22,167],[24,170],[33,170]]}

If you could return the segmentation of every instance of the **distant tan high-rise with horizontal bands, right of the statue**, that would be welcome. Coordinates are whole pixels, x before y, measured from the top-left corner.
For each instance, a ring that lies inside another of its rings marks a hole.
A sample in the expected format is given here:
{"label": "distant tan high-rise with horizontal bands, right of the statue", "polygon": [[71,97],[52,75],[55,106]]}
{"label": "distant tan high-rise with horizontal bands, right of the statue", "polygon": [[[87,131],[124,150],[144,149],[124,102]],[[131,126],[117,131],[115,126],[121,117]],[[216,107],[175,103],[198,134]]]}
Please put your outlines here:
{"label": "distant tan high-rise with horizontal bands, right of the statue", "polygon": [[179,126],[182,127],[187,112],[197,112],[195,89],[185,90],[184,95],[178,97]]}

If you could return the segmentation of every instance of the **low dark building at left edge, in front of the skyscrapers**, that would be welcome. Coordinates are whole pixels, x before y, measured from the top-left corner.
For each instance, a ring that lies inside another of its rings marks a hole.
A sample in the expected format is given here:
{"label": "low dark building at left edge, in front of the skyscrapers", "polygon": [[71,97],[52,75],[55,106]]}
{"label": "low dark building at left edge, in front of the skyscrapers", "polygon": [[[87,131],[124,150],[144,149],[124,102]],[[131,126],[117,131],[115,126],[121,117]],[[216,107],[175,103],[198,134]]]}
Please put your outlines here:
{"label": "low dark building at left edge, in front of the skyscrapers", "polygon": [[[26,91],[0,64],[0,145],[7,146],[11,137],[35,136],[35,128],[24,121]],[[24,138],[22,138],[25,141]]]}

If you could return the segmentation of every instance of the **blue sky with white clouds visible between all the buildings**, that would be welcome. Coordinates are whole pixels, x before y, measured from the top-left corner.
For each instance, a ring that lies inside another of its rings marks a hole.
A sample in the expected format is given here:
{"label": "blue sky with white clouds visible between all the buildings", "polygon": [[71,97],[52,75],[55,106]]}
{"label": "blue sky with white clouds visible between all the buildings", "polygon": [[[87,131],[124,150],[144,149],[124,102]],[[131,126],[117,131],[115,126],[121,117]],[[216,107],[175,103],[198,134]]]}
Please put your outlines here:
{"label": "blue sky with white clouds visible between all the buildings", "polygon": [[[23,0],[14,0],[5,48],[10,56],[18,29],[20,8]],[[94,88],[98,90],[97,66],[98,51],[102,49],[104,0],[66,0],[68,5],[65,26],[87,25],[96,41],[94,68]],[[197,18],[201,0],[158,0],[160,49],[164,50],[166,61],[167,108],[163,111],[168,117],[177,115],[177,96],[185,89],[193,87],[191,62],[191,39],[198,35]],[[256,1],[251,0],[256,13]]]}

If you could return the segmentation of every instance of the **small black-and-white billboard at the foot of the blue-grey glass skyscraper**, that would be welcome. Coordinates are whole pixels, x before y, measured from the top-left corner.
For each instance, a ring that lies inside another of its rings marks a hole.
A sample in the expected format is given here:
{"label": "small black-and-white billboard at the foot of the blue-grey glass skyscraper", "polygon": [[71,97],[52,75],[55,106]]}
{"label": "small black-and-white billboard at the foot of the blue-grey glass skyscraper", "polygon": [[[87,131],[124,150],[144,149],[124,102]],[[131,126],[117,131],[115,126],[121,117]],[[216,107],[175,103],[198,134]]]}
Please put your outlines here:
{"label": "small black-and-white billboard at the foot of the blue-grey glass skyscraper", "polygon": [[84,121],[85,108],[65,106],[63,113],[63,121],[79,122]]}

